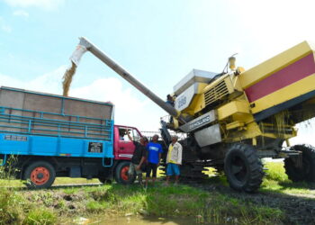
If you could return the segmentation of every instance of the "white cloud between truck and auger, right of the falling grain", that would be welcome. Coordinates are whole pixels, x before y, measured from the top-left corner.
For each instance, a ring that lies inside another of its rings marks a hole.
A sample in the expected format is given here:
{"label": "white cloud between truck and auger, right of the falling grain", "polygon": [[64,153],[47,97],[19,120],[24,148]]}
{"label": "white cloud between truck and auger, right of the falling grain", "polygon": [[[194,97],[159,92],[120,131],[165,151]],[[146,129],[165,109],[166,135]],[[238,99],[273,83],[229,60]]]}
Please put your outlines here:
{"label": "white cloud between truck and auger, right of the falling grain", "polygon": [[[115,104],[115,122],[139,127],[140,130],[157,130],[163,112],[149,100],[141,100],[136,90],[122,86],[121,80],[108,77],[95,80],[92,84],[70,88],[70,96],[94,99]],[[161,114],[162,113],[162,114]]]}

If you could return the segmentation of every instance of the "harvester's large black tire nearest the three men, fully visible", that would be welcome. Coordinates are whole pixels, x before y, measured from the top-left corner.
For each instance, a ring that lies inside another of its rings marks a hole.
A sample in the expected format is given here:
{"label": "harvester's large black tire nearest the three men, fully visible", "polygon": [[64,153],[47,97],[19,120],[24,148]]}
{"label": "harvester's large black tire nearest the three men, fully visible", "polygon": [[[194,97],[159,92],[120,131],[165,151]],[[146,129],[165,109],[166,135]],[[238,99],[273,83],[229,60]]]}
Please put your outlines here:
{"label": "harvester's large black tire nearest the three men, fully visible", "polygon": [[233,144],[224,159],[229,186],[237,191],[256,192],[263,182],[263,164],[257,150],[245,144]]}

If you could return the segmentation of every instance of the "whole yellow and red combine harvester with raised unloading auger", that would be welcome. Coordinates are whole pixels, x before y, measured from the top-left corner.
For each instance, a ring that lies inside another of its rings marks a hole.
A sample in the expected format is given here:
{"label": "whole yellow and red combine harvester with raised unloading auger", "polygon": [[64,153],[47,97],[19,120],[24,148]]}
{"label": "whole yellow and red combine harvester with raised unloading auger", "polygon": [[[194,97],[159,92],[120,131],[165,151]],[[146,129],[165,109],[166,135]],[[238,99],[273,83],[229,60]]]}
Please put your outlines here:
{"label": "whole yellow and red combine harvester with raised unloading auger", "polygon": [[175,107],[85,38],[71,57],[75,65],[86,50],[173,117],[171,124],[161,122],[166,142],[167,128],[187,134],[183,176],[202,176],[205,166],[224,168],[232,188],[254,192],[264,175],[261,158],[273,157],[285,158],[293,182],[315,182],[315,149],[283,147],[297,135],[295,124],[315,117],[314,49],[307,41],[246,71],[235,67],[235,58],[223,73],[193,69],[174,86]]}

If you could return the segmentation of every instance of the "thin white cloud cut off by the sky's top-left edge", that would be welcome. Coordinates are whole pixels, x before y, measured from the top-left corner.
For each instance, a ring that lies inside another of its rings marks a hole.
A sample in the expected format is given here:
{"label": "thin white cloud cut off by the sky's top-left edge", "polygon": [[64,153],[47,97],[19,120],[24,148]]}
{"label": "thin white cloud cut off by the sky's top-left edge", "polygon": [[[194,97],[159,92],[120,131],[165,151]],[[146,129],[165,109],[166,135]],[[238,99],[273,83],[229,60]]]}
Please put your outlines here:
{"label": "thin white cloud cut off by the sky's top-left edge", "polygon": [[64,0],[4,0],[4,3],[13,7],[38,7],[45,10],[57,9]]}

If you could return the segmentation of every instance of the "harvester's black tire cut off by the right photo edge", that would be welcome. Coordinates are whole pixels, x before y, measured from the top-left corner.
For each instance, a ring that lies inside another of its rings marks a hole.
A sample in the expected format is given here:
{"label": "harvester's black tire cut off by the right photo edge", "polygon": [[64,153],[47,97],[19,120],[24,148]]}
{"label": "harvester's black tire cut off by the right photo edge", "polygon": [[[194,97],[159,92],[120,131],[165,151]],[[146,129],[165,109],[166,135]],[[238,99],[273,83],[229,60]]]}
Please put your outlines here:
{"label": "harvester's black tire cut off by the right photo edge", "polygon": [[293,182],[315,182],[315,148],[305,145],[293,146],[302,151],[302,166],[297,166],[292,157],[284,159],[285,173]]}

